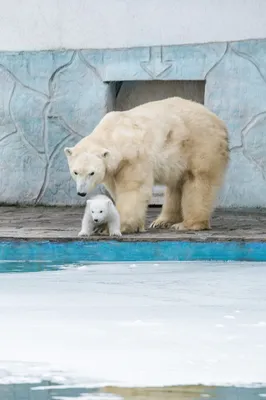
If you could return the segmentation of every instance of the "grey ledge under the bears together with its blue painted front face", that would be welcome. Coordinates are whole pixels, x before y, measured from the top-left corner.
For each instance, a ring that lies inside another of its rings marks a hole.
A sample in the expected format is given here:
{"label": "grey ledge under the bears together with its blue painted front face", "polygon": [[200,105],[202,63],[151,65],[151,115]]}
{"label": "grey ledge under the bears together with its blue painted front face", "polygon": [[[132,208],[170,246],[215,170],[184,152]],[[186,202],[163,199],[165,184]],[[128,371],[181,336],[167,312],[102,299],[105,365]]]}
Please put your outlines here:
{"label": "grey ledge under the bears together with its blue painted front face", "polygon": [[[147,226],[159,212],[149,210]],[[205,232],[147,229],[80,240],[82,214],[80,207],[1,207],[0,272],[88,262],[266,261],[266,210],[217,210]]]}

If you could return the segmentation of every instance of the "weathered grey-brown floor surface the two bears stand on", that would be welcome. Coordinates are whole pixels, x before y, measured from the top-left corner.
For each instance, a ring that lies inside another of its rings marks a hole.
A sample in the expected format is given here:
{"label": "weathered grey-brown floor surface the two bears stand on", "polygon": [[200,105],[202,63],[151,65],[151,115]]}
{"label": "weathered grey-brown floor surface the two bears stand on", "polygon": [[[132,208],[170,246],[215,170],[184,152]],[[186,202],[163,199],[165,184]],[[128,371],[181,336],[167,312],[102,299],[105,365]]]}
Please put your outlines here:
{"label": "weathered grey-brown floor surface the two bears stand on", "polygon": [[[0,239],[76,240],[84,208],[80,207],[1,207]],[[148,212],[147,227],[160,208]],[[85,240],[109,240],[92,236]],[[84,240],[84,239],[82,239]],[[212,230],[176,232],[170,229],[147,229],[144,233],[123,235],[119,241],[266,241],[266,210],[217,210]]]}

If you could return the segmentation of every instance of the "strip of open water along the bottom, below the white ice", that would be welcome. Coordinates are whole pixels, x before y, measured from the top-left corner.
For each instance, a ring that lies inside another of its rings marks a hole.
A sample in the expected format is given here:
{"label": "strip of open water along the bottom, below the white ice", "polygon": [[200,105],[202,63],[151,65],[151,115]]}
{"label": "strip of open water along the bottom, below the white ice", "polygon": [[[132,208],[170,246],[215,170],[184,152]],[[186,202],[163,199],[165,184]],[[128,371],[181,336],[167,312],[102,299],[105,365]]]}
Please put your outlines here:
{"label": "strip of open water along the bottom, below the white ice", "polygon": [[61,388],[51,386],[51,382],[41,382],[41,386],[37,384],[0,385],[1,400],[261,400],[265,397],[265,387],[179,386],[101,390],[82,387]]}

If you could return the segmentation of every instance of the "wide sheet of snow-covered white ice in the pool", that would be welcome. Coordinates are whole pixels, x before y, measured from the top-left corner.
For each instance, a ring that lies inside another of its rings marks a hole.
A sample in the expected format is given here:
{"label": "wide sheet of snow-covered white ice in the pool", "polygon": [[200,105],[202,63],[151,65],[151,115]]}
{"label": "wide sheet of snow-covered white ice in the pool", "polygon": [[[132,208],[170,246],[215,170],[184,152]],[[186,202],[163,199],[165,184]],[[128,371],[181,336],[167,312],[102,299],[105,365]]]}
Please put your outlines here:
{"label": "wide sheet of snow-covered white ice in the pool", "polygon": [[0,383],[266,383],[266,263],[0,274]]}

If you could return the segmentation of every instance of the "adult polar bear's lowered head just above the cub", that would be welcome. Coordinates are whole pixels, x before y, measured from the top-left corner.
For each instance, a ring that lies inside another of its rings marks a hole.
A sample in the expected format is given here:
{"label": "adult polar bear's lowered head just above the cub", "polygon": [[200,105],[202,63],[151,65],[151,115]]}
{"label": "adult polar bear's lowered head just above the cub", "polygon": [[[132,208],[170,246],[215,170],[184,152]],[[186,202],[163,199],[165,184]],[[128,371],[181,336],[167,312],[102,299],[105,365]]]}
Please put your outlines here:
{"label": "adult polar bear's lowered head just above the cub", "polygon": [[108,150],[101,149],[97,152],[76,152],[75,148],[64,149],[67,156],[70,174],[77,185],[79,196],[86,196],[97,185],[103,182],[106,174],[106,158]]}

